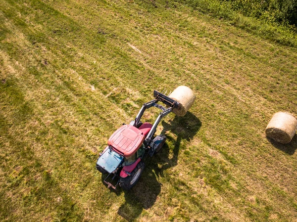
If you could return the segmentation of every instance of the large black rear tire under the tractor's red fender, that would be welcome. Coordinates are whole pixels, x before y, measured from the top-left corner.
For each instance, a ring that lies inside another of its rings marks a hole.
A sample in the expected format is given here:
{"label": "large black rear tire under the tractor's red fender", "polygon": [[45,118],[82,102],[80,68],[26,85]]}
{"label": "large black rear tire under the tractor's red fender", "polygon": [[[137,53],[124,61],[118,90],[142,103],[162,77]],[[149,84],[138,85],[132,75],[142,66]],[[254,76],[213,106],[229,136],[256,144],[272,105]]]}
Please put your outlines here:
{"label": "large black rear tire under the tractor's red fender", "polygon": [[124,190],[131,189],[137,181],[140,179],[140,176],[142,175],[142,172],[144,171],[145,163],[143,161],[140,161],[136,168],[131,172],[131,175],[126,178],[120,179],[120,187]]}

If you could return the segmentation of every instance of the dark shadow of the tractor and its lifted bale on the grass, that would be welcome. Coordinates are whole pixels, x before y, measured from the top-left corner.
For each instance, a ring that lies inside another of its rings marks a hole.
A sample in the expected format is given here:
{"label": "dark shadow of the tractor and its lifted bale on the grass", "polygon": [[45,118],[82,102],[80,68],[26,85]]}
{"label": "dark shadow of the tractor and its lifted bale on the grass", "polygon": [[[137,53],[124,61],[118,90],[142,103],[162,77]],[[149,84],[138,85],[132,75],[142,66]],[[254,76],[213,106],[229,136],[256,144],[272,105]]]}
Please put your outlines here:
{"label": "dark shadow of the tractor and its lifted bale on the grass", "polygon": [[[147,210],[153,206],[161,192],[160,177],[163,177],[165,170],[177,165],[182,140],[190,141],[201,127],[200,120],[191,112],[183,117],[175,116],[168,123],[162,121],[161,124],[163,126],[161,134],[166,134],[167,137],[165,145],[152,158],[148,156],[144,160],[146,164],[144,172],[131,190],[125,191],[119,188],[118,191],[119,194],[124,192],[125,196],[125,202],[120,206],[118,215],[129,222],[135,221],[143,209]],[[175,134],[176,139],[170,136],[169,132]],[[167,143],[173,143],[174,147],[168,146]]]}

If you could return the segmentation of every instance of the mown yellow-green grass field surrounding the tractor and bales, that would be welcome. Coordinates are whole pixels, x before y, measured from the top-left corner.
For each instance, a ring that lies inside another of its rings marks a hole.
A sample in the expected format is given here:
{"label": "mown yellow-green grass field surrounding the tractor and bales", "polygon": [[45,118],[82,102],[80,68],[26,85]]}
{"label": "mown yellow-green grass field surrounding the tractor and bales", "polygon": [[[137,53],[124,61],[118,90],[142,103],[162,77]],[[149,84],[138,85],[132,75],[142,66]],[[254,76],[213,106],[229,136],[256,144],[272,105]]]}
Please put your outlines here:
{"label": "mown yellow-green grass field surrounding the tractor and bales", "polygon": [[[131,191],[107,189],[108,137],[180,85],[190,112]],[[0,221],[297,222],[277,111],[297,114],[295,47],[166,0],[0,0]]]}

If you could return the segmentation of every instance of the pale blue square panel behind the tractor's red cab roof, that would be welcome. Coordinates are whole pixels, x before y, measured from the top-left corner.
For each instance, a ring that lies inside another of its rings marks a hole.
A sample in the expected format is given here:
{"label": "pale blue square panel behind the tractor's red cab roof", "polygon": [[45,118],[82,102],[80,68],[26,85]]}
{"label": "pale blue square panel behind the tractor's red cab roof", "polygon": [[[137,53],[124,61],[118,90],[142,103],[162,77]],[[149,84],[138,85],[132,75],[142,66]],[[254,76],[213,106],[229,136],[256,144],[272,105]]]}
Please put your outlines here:
{"label": "pale blue square panel behind the tractor's red cab roof", "polygon": [[117,152],[107,149],[98,159],[97,165],[102,167],[109,174],[114,172],[123,162],[124,157]]}

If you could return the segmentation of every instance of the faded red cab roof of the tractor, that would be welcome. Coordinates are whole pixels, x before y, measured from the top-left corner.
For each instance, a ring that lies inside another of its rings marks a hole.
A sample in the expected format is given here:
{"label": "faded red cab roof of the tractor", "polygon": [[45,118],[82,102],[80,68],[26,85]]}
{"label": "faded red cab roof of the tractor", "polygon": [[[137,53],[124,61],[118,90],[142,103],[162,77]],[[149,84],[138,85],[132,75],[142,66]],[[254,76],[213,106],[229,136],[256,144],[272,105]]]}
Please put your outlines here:
{"label": "faded red cab roof of the tractor", "polygon": [[125,157],[130,157],[137,152],[144,139],[145,136],[141,130],[132,125],[123,125],[109,137],[108,145]]}

